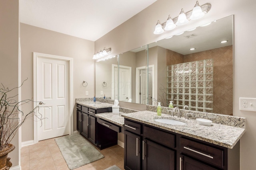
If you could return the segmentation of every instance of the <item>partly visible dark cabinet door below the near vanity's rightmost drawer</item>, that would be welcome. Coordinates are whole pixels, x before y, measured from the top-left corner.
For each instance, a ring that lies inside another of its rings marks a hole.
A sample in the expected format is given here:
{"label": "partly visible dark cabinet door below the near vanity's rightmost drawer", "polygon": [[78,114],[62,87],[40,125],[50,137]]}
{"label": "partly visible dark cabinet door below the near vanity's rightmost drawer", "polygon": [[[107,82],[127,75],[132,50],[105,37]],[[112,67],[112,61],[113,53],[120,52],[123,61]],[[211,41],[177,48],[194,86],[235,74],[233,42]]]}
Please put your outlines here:
{"label": "partly visible dark cabinet door below the near vanity's rightmost drawer", "polygon": [[180,155],[180,166],[180,170],[217,170],[184,155]]}

